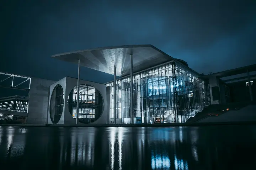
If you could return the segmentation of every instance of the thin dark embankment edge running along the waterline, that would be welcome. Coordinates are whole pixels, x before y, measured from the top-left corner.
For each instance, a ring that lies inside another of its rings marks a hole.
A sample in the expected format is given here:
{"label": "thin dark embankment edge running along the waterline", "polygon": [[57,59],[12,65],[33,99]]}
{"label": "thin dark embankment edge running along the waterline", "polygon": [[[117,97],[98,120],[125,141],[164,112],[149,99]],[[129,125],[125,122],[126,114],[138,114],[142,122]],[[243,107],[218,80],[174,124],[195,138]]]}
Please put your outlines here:
{"label": "thin dark embankment edge running along the waterline", "polygon": [[256,125],[256,121],[244,122],[218,122],[218,123],[165,123],[165,124],[78,124],[78,125],[56,125],[56,124],[0,124],[0,126],[18,127],[175,127],[175,126],[218,126],[218,125]]}

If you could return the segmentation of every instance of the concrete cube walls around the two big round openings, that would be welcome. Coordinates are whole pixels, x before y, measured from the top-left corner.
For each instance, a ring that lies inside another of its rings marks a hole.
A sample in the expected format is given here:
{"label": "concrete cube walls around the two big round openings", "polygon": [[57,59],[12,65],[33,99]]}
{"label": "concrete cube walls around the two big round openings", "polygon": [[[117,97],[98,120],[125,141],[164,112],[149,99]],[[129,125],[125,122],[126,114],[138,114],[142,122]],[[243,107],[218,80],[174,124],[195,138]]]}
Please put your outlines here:
{"label": "concrete cube walls around the two big round openings", "polygon": [[[60,118],[59,122],[57,124],[76,124],[76,120],[72,117],[71,113],[69,112],[68,109],[68,96],[71,90],[77,86],[77,79],[76,78],[71,78],[71,77],[65,77],[53,85],[50,86],[50,96],[52,96],[52,92],[55,88],[56,85],[62,85],[63,90],[64,90],[64,107],[63,107],[63,113],[62,117]],[[86,80],[80,80],[80,84],[88,84],[91,86],[94,86],[102,95],[103,99],[103,111],[100,116],[95,122],[91,124],[106,124],[109,122],[109,103],[107,102],[107,92],[106,92],[106,85],[105,84],[99,84],[91,81],[86,81]],[[109,100],[109,99],[108,99]],[[50,106],[50,101],[49,101],[49,106]],[[50,108],[50,107],[49,107]],[[53,124],[52,120],[50,119],[50,110],[48,111],[48,124]],[[81,124],[81,123],[79,123]]]}

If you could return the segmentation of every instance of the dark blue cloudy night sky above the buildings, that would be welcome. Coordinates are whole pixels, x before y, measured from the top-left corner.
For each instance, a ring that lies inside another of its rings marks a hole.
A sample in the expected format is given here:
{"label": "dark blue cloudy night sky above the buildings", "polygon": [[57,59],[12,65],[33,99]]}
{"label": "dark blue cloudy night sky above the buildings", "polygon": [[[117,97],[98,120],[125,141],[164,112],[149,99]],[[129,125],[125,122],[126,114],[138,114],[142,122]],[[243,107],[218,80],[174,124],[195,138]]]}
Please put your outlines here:
{"label": "dark blue cloudy night sky above the buildings", "polygon": [[[255,0],[4,0],[0,71],[59,80],[77,65],[51,58],[74,50],[152,44],[198,73],[256,63]],[[81,68],[81,79],[113,75]]]}

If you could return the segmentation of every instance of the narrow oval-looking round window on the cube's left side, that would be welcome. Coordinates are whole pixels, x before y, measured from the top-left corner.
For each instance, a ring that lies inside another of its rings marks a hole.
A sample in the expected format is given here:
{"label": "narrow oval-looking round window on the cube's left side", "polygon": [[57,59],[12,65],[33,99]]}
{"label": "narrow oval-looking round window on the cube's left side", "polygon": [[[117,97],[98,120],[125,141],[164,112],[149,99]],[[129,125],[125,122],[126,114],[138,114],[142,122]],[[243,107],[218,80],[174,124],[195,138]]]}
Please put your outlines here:
{"label": "narrow oval-looking round window on the cube's left side", "polygon": [[61,85],[57,85],[50,100],[50,118],[54,124],[58,123],[62,116],[64,106],[64,92]]}

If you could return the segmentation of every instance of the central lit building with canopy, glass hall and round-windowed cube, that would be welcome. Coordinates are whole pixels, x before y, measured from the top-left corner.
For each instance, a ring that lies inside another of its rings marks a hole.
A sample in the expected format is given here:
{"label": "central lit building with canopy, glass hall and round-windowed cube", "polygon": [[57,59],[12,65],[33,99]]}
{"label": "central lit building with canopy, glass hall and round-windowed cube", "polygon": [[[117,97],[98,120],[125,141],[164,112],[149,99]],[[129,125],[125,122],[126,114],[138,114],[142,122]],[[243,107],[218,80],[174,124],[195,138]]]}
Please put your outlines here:
{"label": "central lit building with canopy, glass hall and round-windowed cube", "polygon": [[77,112],[78,123],[185,123],[205,107],[201,75],[152,45],[98,48],[53,58],[79,63],[79,70],[82,65],[121,78],[106,85],[68,77],[56,82],[50,86],[48,123],[74,124]]}

